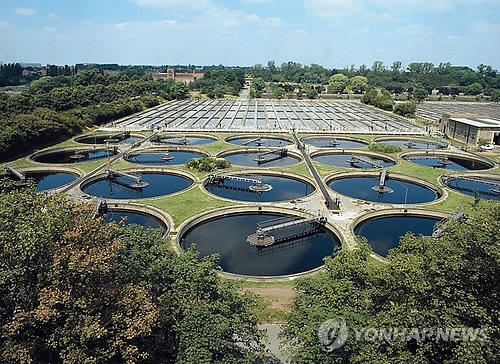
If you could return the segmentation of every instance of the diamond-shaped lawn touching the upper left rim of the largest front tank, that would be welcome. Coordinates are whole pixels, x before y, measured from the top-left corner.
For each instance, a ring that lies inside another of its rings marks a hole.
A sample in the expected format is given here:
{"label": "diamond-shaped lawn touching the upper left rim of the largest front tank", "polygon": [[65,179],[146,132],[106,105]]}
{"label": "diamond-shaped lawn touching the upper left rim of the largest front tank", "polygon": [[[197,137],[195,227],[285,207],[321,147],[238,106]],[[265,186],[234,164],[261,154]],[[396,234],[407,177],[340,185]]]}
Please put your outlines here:
{"label": "diamond-shaped lawn touching the upper left rim of the largest front tank", "polygon": [[195,186],[194,188],[177,195],[137,202],[144,205],[154,206],[165,211],[167,214],[172,216],[176,226],[179,226],[183,221],[201,212],[220,207],[241,205],[212,197],[201,191],[200,186]]}

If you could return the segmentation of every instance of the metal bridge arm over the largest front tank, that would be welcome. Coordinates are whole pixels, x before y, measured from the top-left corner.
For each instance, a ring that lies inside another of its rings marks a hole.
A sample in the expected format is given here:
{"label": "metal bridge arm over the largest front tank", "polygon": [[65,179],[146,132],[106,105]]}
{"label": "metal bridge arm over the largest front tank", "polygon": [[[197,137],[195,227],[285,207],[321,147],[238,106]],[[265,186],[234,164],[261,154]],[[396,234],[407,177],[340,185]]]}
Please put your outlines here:
{"label": "metal bridge arm over the largest front tank", "polygon": [[248,235],[247,242],[257,247],[267,247],[273,244],[279,244],[284,241],[307,236],[311,234],[311,231],[304,231],[298,234],[288,235],[280,239],[275,239],[274,236],[270,235],[271,232],[306,224],[314,227],[314,231],[318,226],[325,225],[326,222],[327,219],[324,216],[314,216],[302,219],[295,219],[293,217],[280,217],[277,219],[263,221],[257,224],[257,229],[254,234]]}

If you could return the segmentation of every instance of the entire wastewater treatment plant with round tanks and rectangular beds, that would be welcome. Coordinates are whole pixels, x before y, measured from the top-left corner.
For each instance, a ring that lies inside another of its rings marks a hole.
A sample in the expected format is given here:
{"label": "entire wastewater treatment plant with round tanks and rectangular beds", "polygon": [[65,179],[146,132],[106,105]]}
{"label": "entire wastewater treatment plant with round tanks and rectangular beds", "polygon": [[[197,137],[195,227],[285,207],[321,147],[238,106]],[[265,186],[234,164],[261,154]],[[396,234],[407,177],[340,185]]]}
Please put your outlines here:
{"label": "entire wastewater treatment plant with round tanks and rectangular beds", "polygon": [[[387,146],[390,148],[384,149]],[[162,230],[220,274],[288,280],[365,237],[385,262],[408,232],[498,201],[498,163],[357,102],[171,101],[5,164],[106,222]]]}

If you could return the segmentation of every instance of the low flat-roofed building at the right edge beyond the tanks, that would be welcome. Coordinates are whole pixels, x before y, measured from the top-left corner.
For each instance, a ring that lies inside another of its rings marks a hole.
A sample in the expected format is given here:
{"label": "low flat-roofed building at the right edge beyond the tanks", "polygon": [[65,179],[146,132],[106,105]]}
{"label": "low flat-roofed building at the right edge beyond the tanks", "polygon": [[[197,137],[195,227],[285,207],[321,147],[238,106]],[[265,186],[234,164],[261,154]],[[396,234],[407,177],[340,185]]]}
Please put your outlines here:
{"label": "low flat-roofed building at the right edge beyond the tanks", "polygon": [[450,139],[478,145],[479,139],[500,144],[500,120],[479,114],[443,114],[441,131]]}

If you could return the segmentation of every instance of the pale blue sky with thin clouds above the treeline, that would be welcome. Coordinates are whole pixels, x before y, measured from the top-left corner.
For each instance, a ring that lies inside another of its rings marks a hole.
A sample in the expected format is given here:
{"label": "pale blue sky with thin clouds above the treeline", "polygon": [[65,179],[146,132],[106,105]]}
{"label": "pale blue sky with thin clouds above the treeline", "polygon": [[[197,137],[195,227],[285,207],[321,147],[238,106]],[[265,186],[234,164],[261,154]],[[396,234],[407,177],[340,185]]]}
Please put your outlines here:
{"label": "pale blue sky with thin clouds above the treeline", "polygon": [[500,69],[499,0],[0,0],[0,62]]}

